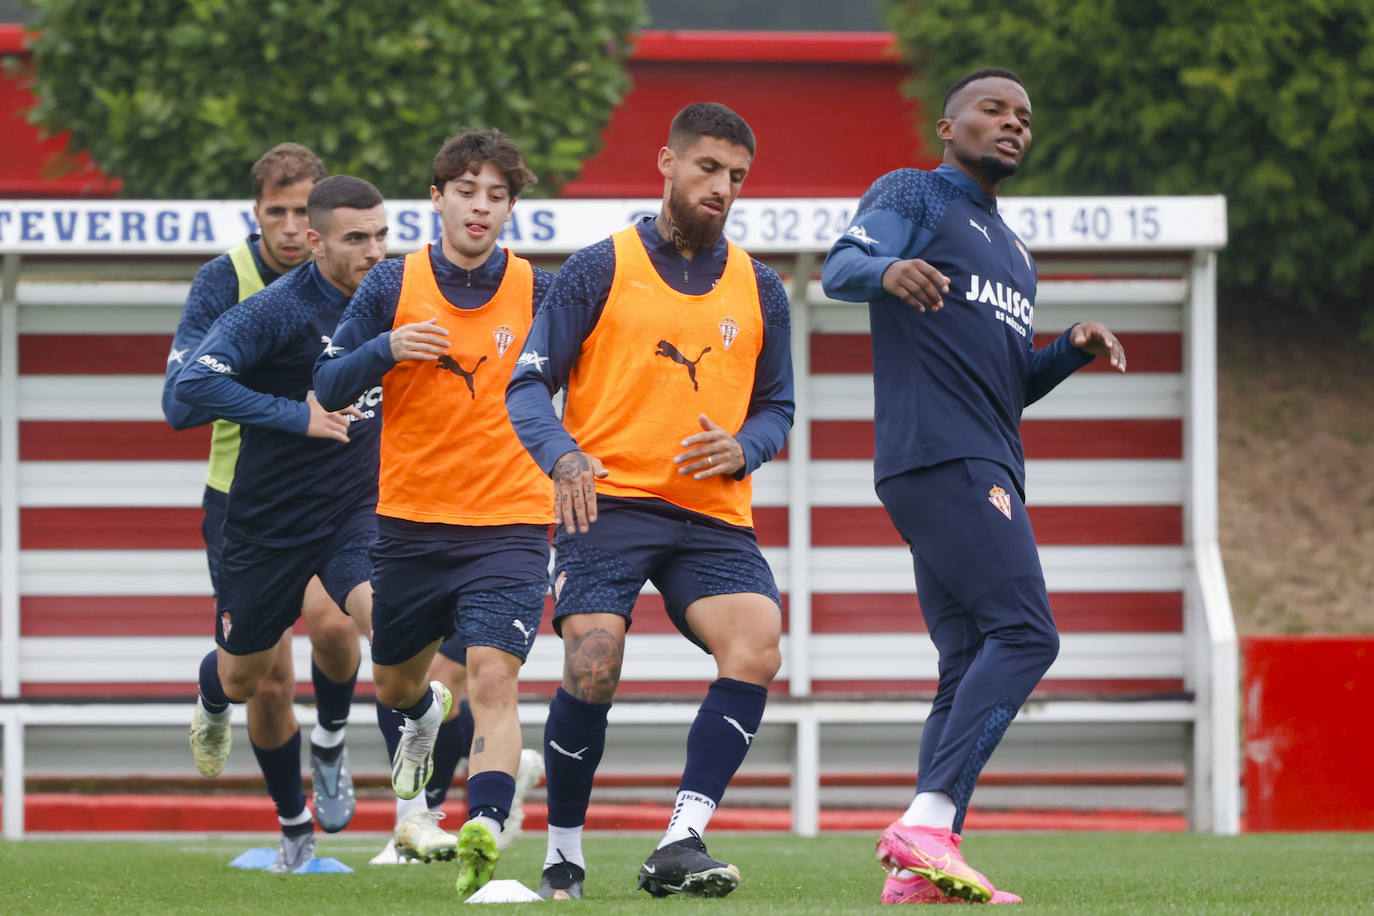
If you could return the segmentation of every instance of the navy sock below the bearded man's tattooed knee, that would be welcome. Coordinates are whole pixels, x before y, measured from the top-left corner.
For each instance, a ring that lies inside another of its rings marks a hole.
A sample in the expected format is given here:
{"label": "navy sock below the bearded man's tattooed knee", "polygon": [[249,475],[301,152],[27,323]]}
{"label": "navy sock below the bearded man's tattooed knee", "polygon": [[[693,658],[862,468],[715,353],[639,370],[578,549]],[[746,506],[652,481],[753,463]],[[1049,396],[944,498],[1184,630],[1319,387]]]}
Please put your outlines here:
{"label": "navy sock below the bearded man's tattooed knee", "polygon": [[606,750],[609,711],[610,703],[580,700],[562,687],[548,705],[544,764],[548,776],[548,823],[554,827],[581,827],[587,823],[592,777]]}

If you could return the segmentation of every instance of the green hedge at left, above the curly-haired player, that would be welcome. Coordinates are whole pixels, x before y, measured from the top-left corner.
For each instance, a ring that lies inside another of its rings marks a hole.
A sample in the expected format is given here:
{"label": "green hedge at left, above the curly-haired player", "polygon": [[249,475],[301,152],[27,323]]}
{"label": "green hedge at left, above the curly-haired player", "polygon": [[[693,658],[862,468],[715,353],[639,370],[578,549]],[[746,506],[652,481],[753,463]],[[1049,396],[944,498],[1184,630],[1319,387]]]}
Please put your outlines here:
{"label": "green hedge at left, above the curly-haired player", "polygon": [[147,198],[236,198],[282,140],[389,196],[497,126],[554,194],[629,85],[640,0],[37,0],[33,119]]}

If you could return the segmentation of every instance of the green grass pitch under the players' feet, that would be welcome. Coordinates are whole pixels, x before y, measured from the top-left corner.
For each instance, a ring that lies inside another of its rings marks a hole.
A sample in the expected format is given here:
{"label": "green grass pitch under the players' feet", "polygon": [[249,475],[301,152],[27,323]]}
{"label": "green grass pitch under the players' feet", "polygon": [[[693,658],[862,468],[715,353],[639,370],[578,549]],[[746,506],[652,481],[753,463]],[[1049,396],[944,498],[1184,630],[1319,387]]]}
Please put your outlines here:
{"label": "green grass pitch under the players' feet", "polygon": [[[0,843],[4,913],[404,913],[452,912],[452,864],[370,867],[376,834],[320,836],[353,875],[268,875],[228,868],[267,835],[232,839],[29,839]],[[651,900],[635,890],[657,835],[589,835],[581,901],[587,913],[882,912],[874,836],[786,834],[708,836],[743,879],[725,900]],[[1374,912],[1374,834],[1197,836],[1191,834],[984,834],[969,861],[1026,902],[1018,912],[1344,913]],[[496,878],[539,884],[543,835],[519,838]],[[499,909],[547,906],[507,904]]]}

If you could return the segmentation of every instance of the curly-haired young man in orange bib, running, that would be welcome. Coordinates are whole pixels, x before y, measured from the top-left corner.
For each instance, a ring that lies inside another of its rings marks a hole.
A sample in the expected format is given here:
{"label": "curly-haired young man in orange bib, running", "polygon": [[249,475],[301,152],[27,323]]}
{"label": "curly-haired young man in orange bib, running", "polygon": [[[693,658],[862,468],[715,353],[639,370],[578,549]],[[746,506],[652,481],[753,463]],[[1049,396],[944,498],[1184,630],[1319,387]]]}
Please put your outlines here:
{"label": "curly-haired young man in orange bib, running", "polygon": [[445,141],[430,188],[440,244],[378,264],[315,369],[322,404],[385,405],[372,676],[378,702],[404,717],[389,748],[403,799],[423,798],[453,705],[430,662],[455,633],[466,648],[469,820],[453,838],[420,802],[394,836],[416,858],[456,853],[462,894],[496,867],[521,759],[517,676],[548,592],[552,485],[517,441],[504,393],[551,275],[496,247],[533,180],[500,130]]}

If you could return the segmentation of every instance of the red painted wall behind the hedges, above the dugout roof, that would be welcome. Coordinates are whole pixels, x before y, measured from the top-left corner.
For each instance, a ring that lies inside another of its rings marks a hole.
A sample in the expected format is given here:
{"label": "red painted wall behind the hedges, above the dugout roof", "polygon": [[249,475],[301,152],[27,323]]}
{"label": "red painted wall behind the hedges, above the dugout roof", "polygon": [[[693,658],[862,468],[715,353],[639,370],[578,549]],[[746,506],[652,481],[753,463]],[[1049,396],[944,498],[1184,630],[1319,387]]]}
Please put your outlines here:
{"label": "red painted wall behind the hedges, above the dugout roof", "polygon": [[[0,54],[27,56],[18,25],[0,25]],[[885,32],[643,32],[629,73],[633,87],[600,152],[561,196],[657,198],[668,122],[702,100],[728,104],[753,126],[750,196],[857,196],[883,172],[938,161],[919,150],[922,118],[901,95],[907,71]],[[0,78],[0,198],[118,191],[84,154],[65,152],[66,135],[41,139],[23,117],[32,104],[22,77]]]}

